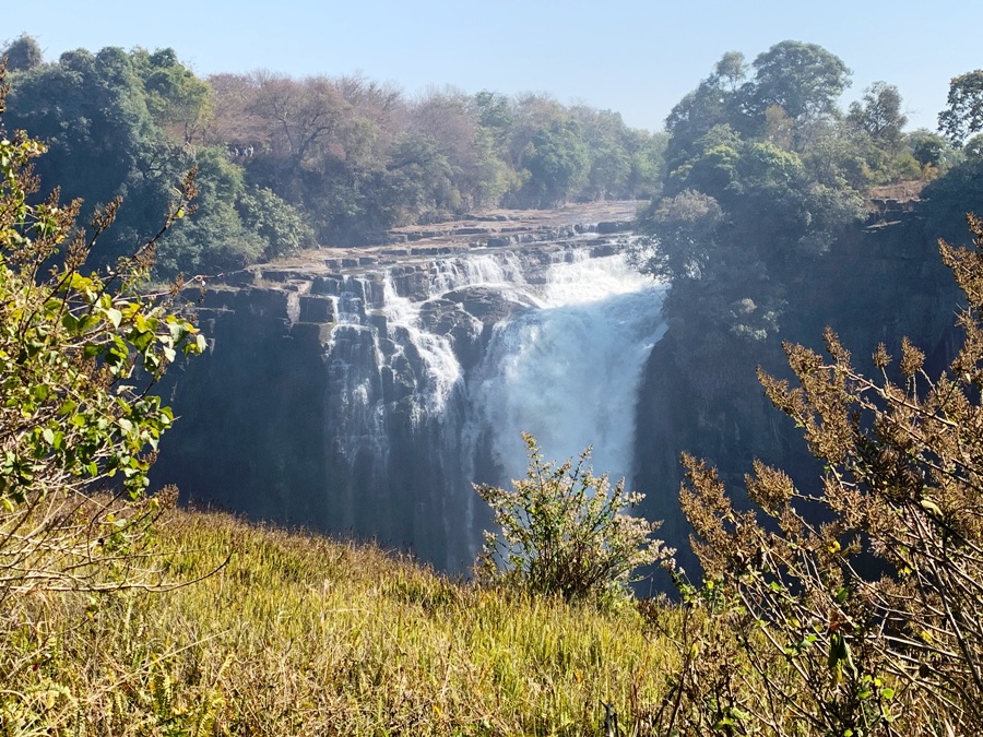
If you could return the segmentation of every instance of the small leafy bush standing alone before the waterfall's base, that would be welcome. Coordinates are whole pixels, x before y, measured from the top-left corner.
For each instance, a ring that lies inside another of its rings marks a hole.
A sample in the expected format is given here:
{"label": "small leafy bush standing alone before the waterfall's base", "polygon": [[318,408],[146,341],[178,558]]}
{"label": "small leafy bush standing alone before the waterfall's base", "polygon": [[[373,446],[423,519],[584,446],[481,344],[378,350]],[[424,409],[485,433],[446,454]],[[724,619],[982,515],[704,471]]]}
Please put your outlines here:
{"label": "small leafy bush standing alone before the waterfall's base", "polygon": [[522,438],[525,478],[512,482],[511,491],[475,485],[501,526],[500,534],[485,533],[479,578],[567,602],[602,602],[628,594],[639,567],[670,558],[673,550],[650,538],[659,523],[625,513],[643,496],[625,491],[624,479],[612,488],[606,474],[594,476],[590,449],[576,464],[557,466],[543,460],[535,438]]}

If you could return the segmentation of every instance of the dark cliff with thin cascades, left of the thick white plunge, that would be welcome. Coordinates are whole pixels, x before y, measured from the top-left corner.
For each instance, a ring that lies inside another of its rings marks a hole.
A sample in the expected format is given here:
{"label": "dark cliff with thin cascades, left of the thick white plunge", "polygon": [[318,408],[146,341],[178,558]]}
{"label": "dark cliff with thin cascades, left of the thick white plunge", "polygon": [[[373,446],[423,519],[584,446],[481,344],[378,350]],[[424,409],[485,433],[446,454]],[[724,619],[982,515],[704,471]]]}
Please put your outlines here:
{"label": "dark cliff with thin cascades, left of the thick white plunge", "polygon": [[[612,252],[606,240],[582,240],[524,247],[513,259],[535,283],[571,248]],[[467,284],[431,294],[447,263],[256,270],[189,289],[210,349],[161,388],[179,421],[162,441],[154,484],[465,571],[492,526],[471,483],[497,476],[487,443],[463,432],[467,399],[455,377],[466,379],[493,328],[531,302]],[[418,330],[392,320],[393,300],[413,306]],[[435,337],[452,356],[428,353]]]}

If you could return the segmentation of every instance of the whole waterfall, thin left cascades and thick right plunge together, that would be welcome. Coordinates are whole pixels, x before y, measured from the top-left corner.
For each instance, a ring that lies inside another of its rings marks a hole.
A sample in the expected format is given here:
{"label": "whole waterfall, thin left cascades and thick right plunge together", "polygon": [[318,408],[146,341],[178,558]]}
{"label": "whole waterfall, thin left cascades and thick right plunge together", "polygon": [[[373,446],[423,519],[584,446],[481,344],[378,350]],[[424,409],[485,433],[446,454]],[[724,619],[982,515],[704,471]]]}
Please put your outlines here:
{"label": "whole waterfall, thin left cascades and thick right plunge together", "polygon": [[596,473],[629,475],[666,287],[625,255],[591,250],[470,253],[325,283],[337,319],[325,427],[342,524],[388,530],[383,539],[461,571],[490,524],[471,482],[522,477],[522,431],[547,459],[592,445]]}

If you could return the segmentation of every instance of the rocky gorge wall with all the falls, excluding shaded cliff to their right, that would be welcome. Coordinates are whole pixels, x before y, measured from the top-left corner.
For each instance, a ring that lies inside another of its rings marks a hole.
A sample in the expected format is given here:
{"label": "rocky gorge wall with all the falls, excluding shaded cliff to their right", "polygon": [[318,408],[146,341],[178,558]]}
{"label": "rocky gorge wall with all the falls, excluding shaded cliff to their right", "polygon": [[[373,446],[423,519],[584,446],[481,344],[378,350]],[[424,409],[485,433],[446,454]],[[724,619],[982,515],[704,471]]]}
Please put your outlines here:
{"label": "rocky gorge wall with all the falls, excluding shaded cliff to their right", "polygon": [[155,483],[465,571],[490,526],[472,482],[524,474],[520,431],[630,473],[664,287],[626,262],[635,203],[620,207],[405,229],[189,287],[210,349],[162,388],[179,421]]}

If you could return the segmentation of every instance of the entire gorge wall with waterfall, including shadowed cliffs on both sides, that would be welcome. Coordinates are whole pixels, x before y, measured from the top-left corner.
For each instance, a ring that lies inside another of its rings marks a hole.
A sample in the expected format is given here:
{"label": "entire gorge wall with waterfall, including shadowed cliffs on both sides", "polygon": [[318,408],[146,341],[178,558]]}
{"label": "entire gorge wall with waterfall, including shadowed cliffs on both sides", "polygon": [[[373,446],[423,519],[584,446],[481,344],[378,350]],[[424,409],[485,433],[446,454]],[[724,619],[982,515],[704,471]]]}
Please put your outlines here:
{"label": "entire gorge wall with waterfall, including shadowed cliffs on both sides", "polygon": [[738,495],[754,457],[819,478],[756,380],[758,365],[786,372],[782,341],[818,348],[831,325],[864,369],[902,335],[936,367],[952,353],[958,292],[917,218],[846,234],[789,285],[781,329],[748,341],[685,312],[665,323],[664,287],[624,259],[632,210],[404,229],[189,288],[210,350],[163,387],[180,419],[155,483],[462,572],[492,523],[471,484],[523,475],[528,430],[549,459],[593,444],[595,469],[629,476],[691,567],[680,452]]}

